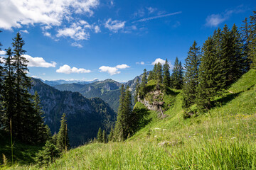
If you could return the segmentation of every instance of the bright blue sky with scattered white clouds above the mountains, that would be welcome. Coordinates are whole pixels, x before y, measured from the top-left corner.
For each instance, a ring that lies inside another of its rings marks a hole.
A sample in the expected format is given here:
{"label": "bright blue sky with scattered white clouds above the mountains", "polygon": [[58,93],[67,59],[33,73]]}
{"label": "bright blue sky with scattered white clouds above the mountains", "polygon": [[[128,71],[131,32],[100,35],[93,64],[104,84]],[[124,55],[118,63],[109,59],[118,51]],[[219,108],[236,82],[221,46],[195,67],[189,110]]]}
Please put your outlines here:
{"label": "bright blue sky with scattered white clouds above the mountains", "polygon": [[[128,81],[212,35],[241,26],[256,1],[1,0],[1,48],[20,31],[30,77]],[[4,57],[4,51],[0,52]]]}

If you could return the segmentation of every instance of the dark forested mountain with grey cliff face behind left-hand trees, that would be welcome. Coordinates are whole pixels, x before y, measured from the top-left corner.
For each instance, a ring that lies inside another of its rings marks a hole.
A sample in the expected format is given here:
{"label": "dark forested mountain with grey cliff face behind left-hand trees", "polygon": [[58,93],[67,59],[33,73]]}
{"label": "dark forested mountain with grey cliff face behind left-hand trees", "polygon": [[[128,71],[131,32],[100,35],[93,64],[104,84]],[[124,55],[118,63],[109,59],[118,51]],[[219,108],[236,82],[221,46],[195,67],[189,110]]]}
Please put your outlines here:
{"label": "dark forested mountain with grey cliff face behind left-hand trees", "polygon": [[52,133],[58,132],[63,113],[68,118],[70,145],[82,145],[97,135],[101,127],[110,131],[116,113],[100,98],[85,98],[78,92],[58,91],[39,79],[33,79],[31,94],[38,91],[45,121]]}

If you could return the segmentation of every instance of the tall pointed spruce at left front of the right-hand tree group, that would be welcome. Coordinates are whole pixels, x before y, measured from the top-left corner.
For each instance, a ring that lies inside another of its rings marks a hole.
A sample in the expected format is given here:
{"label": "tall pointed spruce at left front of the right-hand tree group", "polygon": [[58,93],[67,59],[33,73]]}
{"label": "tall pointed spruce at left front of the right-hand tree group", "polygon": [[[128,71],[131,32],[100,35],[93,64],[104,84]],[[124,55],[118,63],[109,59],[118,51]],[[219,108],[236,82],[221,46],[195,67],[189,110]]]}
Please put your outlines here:
{"label": "tall pointed spruce at left front of the right-hand tree group", "polygon": [[185,77],[183,81],[183,108],[193,105],[196,100],[196,89],[198,87],[199,65],[201,64],[200,47],[196,41],[189,48],[188,57],[185,59]]}

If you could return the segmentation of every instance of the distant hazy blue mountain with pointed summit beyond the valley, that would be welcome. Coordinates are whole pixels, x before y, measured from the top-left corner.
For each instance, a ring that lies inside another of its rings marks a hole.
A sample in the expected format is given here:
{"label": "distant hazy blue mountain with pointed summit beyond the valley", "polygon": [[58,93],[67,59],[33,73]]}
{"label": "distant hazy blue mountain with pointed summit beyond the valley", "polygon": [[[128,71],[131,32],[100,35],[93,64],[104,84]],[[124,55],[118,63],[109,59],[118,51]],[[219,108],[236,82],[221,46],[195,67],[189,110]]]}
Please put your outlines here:
{"label": "distant hazy blue mountain with pointed summit beyond the valley", "polygon": [[[132,95],[134,95],[137,79],[140,81],[142,79],[142,75],[135,77],[124,84],[124,86],[128,85],[132,89]],[[53,87],[60,91],[77,91],[86,98],[102,98],[103,101],[108,103],[110,107],[117,112],[120,96],[119,88],[121,86],[122,84],[117,81],[106,79],[105,81],[96,81],[91,84],[58,84]]]}

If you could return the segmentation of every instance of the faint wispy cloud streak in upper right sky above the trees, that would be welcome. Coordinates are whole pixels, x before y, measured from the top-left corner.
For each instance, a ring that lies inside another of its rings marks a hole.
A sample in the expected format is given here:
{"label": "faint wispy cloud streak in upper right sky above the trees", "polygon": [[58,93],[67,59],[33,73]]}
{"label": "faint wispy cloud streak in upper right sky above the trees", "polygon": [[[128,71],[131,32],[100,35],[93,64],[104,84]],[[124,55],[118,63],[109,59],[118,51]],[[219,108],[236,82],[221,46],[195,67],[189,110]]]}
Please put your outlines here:
{"label": "faint wispy cloud streak in upper right sky above the trees", "polygon": [[211,14],[210,16],[207,16],[205,25],[216,27],[220,25],[220,23],[227,21],[233,13],[242,13],[243,11],[245,11],[244,6],[237,6],[231,10],[225,10],[223,13]]}

